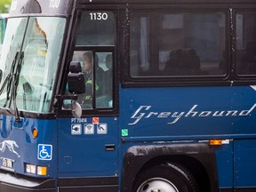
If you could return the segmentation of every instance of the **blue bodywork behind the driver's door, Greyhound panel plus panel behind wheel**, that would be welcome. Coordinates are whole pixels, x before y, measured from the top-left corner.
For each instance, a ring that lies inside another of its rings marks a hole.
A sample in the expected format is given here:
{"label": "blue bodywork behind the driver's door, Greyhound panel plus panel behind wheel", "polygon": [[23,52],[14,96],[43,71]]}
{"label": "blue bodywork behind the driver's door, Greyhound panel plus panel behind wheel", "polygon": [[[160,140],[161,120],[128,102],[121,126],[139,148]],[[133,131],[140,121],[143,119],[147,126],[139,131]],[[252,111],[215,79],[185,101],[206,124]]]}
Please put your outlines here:
{"label": "blue bodywork behind the driver's door, Greyhound panel plus panel behind wheel", "polygon": [[[127,143],[122,153],[134,142],[227,140],[220,147],[212,147],[220,188],[255,187],[254,88],[121,88],[120,134]],[[245,157],[244,148],[251,151],[250,158]]]}

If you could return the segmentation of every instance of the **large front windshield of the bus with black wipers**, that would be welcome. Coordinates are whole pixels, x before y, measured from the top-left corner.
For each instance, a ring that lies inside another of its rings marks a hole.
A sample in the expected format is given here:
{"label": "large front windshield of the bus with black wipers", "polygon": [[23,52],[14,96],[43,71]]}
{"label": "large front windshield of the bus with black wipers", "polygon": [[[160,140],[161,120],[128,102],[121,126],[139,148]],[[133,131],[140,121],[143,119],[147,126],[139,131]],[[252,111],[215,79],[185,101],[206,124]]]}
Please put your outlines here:
{"label": "large front windshield of the bus with black wipers", "polygon": [[0,60],[0,108],[13,108],[16,100],[19,110],[50,111],[65,24],[64,18],[8,20]]}

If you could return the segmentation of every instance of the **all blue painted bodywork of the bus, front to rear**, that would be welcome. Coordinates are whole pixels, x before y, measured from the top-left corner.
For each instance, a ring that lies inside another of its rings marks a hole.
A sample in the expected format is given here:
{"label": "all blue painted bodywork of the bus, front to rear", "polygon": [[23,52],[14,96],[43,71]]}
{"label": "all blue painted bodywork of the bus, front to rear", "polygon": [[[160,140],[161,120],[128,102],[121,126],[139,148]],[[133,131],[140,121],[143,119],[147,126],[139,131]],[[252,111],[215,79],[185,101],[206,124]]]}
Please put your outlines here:
{"label": "all blue painted bodywork of the bus, front to rear", "polygon": [[[223,139],[228,142],[212,147],[220,188],[253,187],[255,96],[250,86],[120,88],[119,117],[22,118],[18,124],[13,116],[1,115],[0,154],[14,160],[18,173],[29,163],[47,165],[47,176],[53,178],[120,176],[124,154],[132,146]],[[13,141],[17,154],[7,145],[4,149],[4,140]],[[51,159],[38,159],[42,145],[52,146]]]}

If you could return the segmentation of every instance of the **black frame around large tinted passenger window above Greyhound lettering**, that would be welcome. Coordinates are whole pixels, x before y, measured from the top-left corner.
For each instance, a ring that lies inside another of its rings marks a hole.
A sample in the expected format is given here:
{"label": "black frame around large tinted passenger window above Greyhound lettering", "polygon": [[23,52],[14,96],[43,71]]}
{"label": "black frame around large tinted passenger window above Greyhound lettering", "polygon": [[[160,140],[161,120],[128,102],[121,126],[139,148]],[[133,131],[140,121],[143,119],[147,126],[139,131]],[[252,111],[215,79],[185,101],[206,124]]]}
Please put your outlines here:
{"label": "black frame around large tinted passenger window above Greyhound lettering", "polygon": [[[207,5],[207,4],[206,4]],[[226,45],[226,56],[227,56],[227,74],[226,76],[180,76],[177,77],[169,77],[169,76],[139,76],[132,77],[130,75],[130,53],[126,55],[126,66],[124,68],[124,79],[123,79],[123,87],[165,87],[165,86],[216,86],[216,85],[246,85],[246,84],[256,84],[256,76],[236,76],[236,52],[233,50],[233,47],[236,47],[236,39],[234,40],[233,36],[236,34],[236,28],[233,28],[236,17],[234,17],[234,12],[244,12],[240,6],[232,7],[228,4],[219,4],[212,5],[211,8],[206,6],[205,4],[195,5],[175,5],[170,6],[168,4],[157,5],[157,9],[154,10],[149,9],[148,6],[145,8],[141,8],[140,5],[132,5],[129,10],[129,20],[130,12],[223,12],[225,14],[225,45]],[[230,8],[231,7],[231,8]],[[146,9],[148,8],[148,9]],[[246,9],[248,10],[248,9]],[[251,11],[255,8],[251,9]],[[126,28],[126,33],[129,34],[126,39],[126,52],[130,52],[130,27]],[[232,36],[231,36],[232,35]]]}

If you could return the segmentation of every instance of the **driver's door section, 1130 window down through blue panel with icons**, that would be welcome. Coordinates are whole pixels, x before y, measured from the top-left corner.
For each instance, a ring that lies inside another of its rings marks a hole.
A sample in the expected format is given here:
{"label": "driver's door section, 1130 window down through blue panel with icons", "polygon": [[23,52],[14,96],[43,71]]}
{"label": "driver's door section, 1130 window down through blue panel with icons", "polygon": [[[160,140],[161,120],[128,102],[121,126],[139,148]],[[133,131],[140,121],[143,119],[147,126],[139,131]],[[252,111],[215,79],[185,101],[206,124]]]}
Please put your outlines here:
{"label": "driver's door section, 1130 window down through blue panel with icons", "polygon": [[78,12],[71,62],[78,62],[84,74],[85,92],[77,99],[83,114],[71,116],[70,100],[63,101],[69,118],[60,118],[59,123],[60,176],[68,176],[68,172],[72,176],[74,172],[82,176],[117,174],[115,15],[109,11]]}

